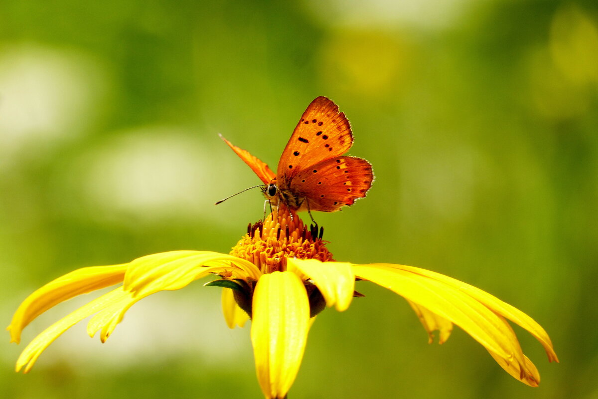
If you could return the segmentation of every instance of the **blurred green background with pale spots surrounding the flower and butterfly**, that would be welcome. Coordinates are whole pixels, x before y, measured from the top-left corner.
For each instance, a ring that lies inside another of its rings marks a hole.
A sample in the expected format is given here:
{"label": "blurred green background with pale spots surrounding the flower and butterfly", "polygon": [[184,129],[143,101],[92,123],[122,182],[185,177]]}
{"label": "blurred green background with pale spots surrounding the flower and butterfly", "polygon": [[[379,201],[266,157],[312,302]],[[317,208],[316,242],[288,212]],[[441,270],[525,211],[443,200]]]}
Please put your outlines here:
{"label": "blurred green background with pale spots surrounding the flower and butterfly", "polygon": [[[376,182],[314,215],[337,260],[425,267],[529,313],[533,389],[456,328],[442,346],[366,283],[310,333],[289,397],[598,398],[598,3],[305,0],[0,2],[0,319],[78,267],[173,249],[228,252],[261,218],[218,138],[275,167],[309,102],[340,105]],[[77,325],[7,398],[261,398],[249,328],[200,282],[127,313],[107,343]]]}

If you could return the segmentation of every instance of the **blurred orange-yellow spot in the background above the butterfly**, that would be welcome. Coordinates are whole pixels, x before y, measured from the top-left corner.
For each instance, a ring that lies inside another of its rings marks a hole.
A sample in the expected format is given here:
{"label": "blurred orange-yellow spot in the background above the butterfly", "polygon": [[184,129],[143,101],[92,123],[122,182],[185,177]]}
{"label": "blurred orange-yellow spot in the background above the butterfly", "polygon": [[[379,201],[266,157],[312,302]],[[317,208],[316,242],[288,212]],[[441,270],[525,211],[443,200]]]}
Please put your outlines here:
{"label": "blurred orange-yellow spot in the background above the butterfly", "polygon": [[341,31],[320,52],[320,75],[333,92],[373,97],[400,90],[413,62],[407,43],[380,32]]}

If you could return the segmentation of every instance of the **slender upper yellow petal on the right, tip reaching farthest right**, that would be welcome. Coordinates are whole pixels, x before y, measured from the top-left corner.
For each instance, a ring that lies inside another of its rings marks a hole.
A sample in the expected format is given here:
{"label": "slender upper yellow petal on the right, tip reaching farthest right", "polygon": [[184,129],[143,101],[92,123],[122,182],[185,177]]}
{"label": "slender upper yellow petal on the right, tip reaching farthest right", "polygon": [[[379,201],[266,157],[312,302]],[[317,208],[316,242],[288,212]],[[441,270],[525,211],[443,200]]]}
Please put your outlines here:
{"label": "slender upper yellow petal on the right, tip reaching farthest right", "polygon": [[480,301],[499,315],[511,320],[515,324],[520,325],[520,327],[525,328],[527,331],[529,331],[530,334],[532,334],[532,336],[534,336],[542,344],[542,346],[544,346],[544,350],[548,355],[548,361],[559,361],[559,358],[557,358],[557,354],[554,352],[553,343],[551,342],[548,333],[534,319],[526,315],[526,313],[521,312],[521,310],[517,309],[516,307],[511,306],[510,304],[504,301],[501,301],[500,299],[487,293],[486,291],[480,290],[480,288],[466,284],[449,276],[441,275],[440,273],[431,272],[430,270],[420,269],[419,267],[413,266],[388,266],[398,267],[402,270],[408,270],[412,273],[427,276],[429,278],[441,281],[444,284],[450,285],[451,287],[454,287],[459,291],[463,291],[464,293],[477,299],[478,301]]}

